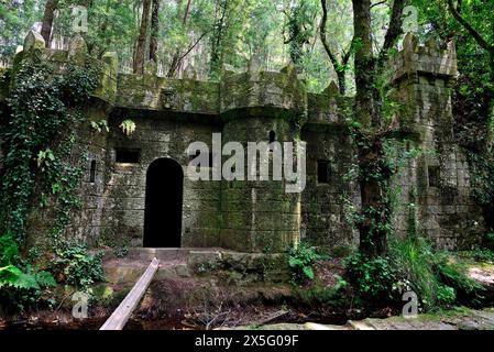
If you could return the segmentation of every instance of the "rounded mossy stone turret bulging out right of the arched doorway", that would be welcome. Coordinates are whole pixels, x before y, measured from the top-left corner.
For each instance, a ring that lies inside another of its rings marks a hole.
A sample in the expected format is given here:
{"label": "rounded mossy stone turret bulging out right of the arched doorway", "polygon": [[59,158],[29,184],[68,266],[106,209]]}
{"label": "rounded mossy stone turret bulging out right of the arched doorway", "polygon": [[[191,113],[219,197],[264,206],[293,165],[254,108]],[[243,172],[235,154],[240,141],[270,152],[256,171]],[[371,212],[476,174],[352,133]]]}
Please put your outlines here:
{"label": "rounded mossy stone turret bulging out right of the arched doorway", "polygon": [[[273,165],[276,157],[287,156],[285,142],[288,142],[294,151],[293,169],[301,163],[305,167],[305,161],[297,154],[303,146],[300,127],[306,120],[305,86],[297,79],[294,68],[288,66],[282,73],[262,72],[254,58],[246,73],[223,79],[220,99],[223,145],[239,142],[249,152],[249,144],[265,144],[264,151],[261,147],[256,152],[253,164],[256,180],[250,180],[250,170],[245,167],[245,180],[222,183],[221,244],[248,252],[283,251],[295,245],[299,241],[303,189],[290,189],[293,180],[287,180],[285,169],[278,170],[282,179],[274,179],[277,172],[273,170]],[[281,150],[268,145],[272,142],[278,143]],[[223,161],[227,158],[223,156]],[[270,163],[265,175],[261,158]],[[245,155],[245,166],[248,162]],[[278,165],[284,167],[284,164]]]}

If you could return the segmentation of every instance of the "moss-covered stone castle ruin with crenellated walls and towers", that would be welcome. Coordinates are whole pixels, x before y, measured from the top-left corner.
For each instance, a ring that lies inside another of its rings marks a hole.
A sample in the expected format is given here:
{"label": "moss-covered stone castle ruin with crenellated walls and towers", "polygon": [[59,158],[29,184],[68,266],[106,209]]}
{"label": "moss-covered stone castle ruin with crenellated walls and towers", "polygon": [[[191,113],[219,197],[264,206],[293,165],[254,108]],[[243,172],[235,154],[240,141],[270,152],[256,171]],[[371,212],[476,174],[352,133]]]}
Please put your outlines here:
{"label": "moss-covered stone castle ruin with crenellated walls and towers", "polygon": [[[360,202],[359,185],[348,179],[355,163],[345,117],[353,98],[331,84],[322,94],[306,90],[288,66],[281,73],[224,72],[221,81],[118,73],[118,57],[87,55],[80,36],[68,51],[44,48],[31,32],[14,61],[52,63],[63,74],[67,63],[97,65],[100,86],[87,107],[90,121],[108,121],[109,132],[89,124],[78,139],[89,153],[80,185],[83,209],[74,213],[70,235],[97,244],[103,239],[151,248],[222,248],[239,252],[283,251],[300,240],[315,245],[358,243],[348,222]],[[396,176],[399,198],[395,229],[410,227],[438,246],[457,248],[483,232],[482,211],[470,188],[465,155],[454,144],[450,87],[457,76],[454,45],[430,41],[419,45],[407,34],[389,64],[395,96],[405,107],[396,117],[397,148],[433,151],[406,162]],[[9,82],[0,86],[0,103]],[[119,128],[135,122],[128,135]],[[191,182],[186,174],[187,146],[201,141],[211,147],[212,133],[222,142],[307,142],[307,185],[285,193],[284,182]],[[1,168],[1,164],[0,164]],[[43,212],[30,217],[40,232]],[[33,232],[34,233],[34,232]]]}

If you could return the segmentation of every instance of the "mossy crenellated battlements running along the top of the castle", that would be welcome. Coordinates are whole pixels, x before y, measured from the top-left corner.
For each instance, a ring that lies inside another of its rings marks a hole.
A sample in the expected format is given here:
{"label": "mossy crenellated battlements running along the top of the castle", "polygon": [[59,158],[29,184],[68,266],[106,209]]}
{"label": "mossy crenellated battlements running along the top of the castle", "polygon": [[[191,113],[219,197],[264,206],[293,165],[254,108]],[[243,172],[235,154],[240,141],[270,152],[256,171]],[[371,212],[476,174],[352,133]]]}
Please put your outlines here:
{"label": "mossy crenellated battlements running along the top of the castle", "polygon": [[[158,77],[152,65],[146,65],[144,75],[119,74],[117,54],[105,53],[101,59],[89,56],[80,35],[72,38],[67,51],[56,51],[45,48],[43,37],[31,31],[25,37],[24,50],[15,56],[13,69],[25,59],[52,63],[55,74],[63,74],[68,63],[99,67],[100,85],[92,96],[114,108],[218,116],[223,119],[256,114],[286,116],[296,117],[299,121],[308,119],[312,123],[342,123],[340,111],[351,100],[338,94],[334,82],[321,94],[308,94],[293,66],[288,65],[282,72],[263,72],[255,58],[245,73],[224,70],[219,82],[197,80],[195,74],[185,79]],[[420,77],[425,77],[424,81],[442,87],[454,80],[454,44],[449,43],[446,50],[441,50],[435,40],[420,45],[418,38],[408,33],[403,41],[403,50],[391,59],[389,65],[394,68],[392,82],[398,86],[402,101],[406,101],[410,97],[407,86],[419,82]],[[404,97],[408,98],[405,100]],[[239,111],[244,113],[239,114]]]}

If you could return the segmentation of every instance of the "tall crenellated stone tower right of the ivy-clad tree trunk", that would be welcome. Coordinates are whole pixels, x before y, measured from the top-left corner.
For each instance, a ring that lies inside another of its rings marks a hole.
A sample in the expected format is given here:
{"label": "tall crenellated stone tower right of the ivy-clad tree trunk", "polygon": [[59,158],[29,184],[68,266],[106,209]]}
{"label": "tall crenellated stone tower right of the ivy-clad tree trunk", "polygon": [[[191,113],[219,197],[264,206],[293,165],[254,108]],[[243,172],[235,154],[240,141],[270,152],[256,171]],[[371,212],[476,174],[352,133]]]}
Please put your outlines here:
{"label": "tall crenellated stone tower right of the ivy-clad tree trunk", "polygon": [[400,209],[395,227],[405,235],[413,226],[440,248],[472,244],[485,229],[482,209],[472,197],[465,154],[454,143],[454,44],[446,50],[435,41],[419,45],[408,34],[393,65],[397,96],[406,108],[397,119],[399,130],[415,140],[405,148],[422,151],[397,176]]}

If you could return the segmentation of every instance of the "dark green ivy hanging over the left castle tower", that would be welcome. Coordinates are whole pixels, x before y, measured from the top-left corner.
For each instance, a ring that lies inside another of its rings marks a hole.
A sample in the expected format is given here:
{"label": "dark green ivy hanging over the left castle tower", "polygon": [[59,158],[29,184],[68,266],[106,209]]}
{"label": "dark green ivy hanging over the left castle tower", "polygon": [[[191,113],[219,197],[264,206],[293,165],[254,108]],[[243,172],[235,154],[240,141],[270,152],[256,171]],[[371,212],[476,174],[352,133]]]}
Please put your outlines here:
{"label": "dark green ivy hanging over the left castle tower", "polygon": [[[44,188],[58,199],[61,222],[66,224],[75,205],[72,191],[80,169],[65,162],[70,155],[74,138],[61,140],[67,124],[83,119],[77,107],[89,98],[96,87],[91,70],[69,67],[67,74],[53,76],[46,65],[24,65],[15,77],[15,87],[8,100],[10,117],[2,131],[8,151],[0,189],[0,223],[3,232],[24,240],[25,218],[36,177]],[[55,154],[54,143],[62,146]],[[37,161],[36,164],[33,161]],[[63,219],[64,218],[64,219]]]}

